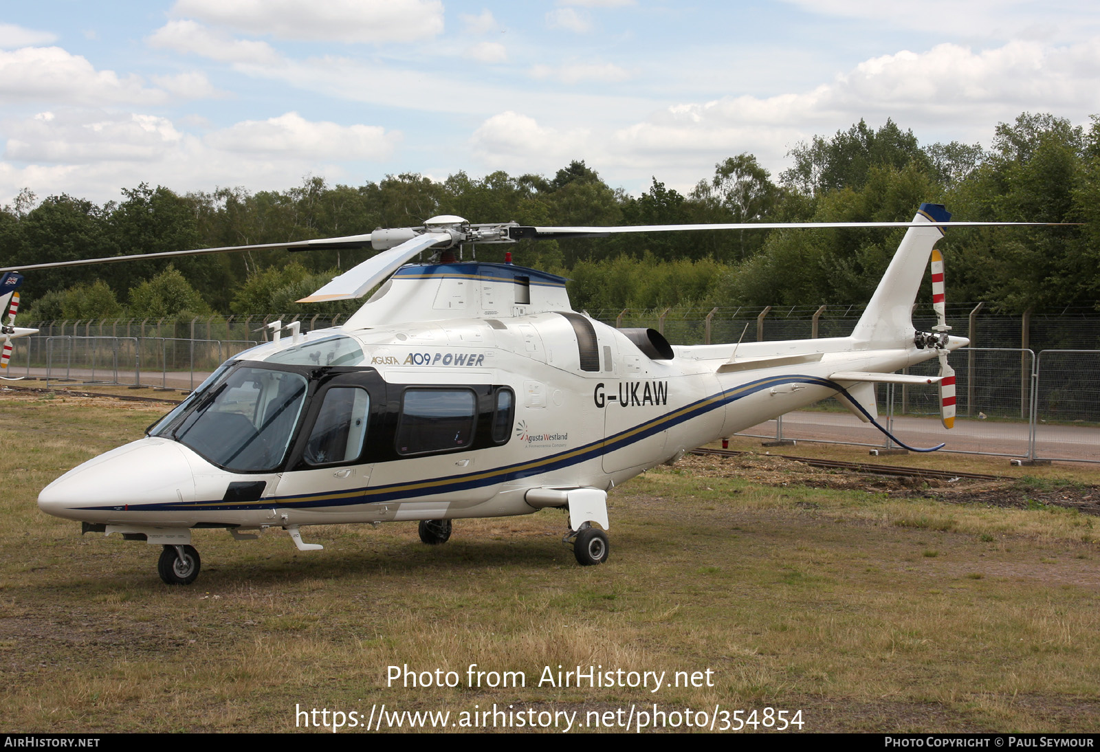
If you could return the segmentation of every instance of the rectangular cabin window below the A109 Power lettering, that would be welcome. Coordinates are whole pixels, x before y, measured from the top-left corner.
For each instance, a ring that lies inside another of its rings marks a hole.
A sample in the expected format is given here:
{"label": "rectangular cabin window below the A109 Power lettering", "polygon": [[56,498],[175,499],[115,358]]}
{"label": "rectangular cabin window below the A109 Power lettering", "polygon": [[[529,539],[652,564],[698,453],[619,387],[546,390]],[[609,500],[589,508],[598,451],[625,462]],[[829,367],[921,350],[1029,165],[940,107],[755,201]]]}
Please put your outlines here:
{"label": "rectangular cabin window below the A109 Power lettering", "polygon": [[476,419],[477,399],[471,389],[406,389],[397,425],[397,453],[469,447]]}

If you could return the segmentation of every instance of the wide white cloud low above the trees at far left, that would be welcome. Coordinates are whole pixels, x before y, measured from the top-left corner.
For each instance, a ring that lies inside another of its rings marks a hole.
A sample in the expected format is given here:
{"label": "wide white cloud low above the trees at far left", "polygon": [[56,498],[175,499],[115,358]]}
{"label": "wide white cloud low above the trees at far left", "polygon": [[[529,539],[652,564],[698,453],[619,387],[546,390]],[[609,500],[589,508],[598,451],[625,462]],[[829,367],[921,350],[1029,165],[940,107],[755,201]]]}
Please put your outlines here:
{"label": "wide white cloud low above the trees at far left", "polygon": [[[188,119],[182,118],[179,123]],[[361,181],[356,161],[385,158],[399,134],[364,125],[310,123],[294,113],[243,122],[200,139],[166,118],[64,109],[0,123],[9,136],[0,159],[0,203],[30,186],[102,203],[141,183],[177,192],[297,185],[302,175]],[[352,164],[349,164],[352,163]]]}

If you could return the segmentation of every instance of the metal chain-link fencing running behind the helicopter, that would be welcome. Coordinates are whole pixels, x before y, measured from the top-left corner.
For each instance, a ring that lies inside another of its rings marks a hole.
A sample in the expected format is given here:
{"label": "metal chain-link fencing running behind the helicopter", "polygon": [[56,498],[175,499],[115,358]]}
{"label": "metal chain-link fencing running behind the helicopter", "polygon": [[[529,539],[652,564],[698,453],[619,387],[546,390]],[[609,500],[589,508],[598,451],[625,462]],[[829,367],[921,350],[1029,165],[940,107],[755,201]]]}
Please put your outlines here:
{"label": "metal chain-link fencing running behind the helicopter", "polygon": [[[619,328],[652,327],[673,344],[704,344],[846,336],[861,312],[855,306],[679,308],[601,310],[593,318]],[[265,325],[276,320],[299,321],[301,331],[308,332],[339,325],[343,318],[256,314],[38,322],[37,336],[16,342],[8,374],[194,388],[226,358],[267,341],[271,331]],[[924,330],[936,323],[931,307],[924,306],[914,308],[913,321]],[[952,431],[939,425],[934,387],[882,385],[878,401],[883,421],[899,439],[914,445],[947,441],[947,451],[1100,461],[1100,319],[1087,312],[989,316],[982,314],[980,305],[964,303],[948,309],[947,321],[952,334],[982,344],[950,356],[957,381],[956,425]],[[937,372],[935,360],[911,369],[917,375]],[[832,408],[791,413],[749,433],[891,447],[876,429]]]}

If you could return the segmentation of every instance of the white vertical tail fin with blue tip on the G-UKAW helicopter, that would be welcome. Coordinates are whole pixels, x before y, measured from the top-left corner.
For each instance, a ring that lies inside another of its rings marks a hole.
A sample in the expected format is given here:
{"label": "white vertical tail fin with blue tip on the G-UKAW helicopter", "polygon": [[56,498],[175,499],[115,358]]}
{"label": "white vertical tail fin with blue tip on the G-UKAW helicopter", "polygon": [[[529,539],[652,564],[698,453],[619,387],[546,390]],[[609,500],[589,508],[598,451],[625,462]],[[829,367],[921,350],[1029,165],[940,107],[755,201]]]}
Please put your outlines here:
{"label": "white vertical tail fin with blue tip on the G-UKAW helicopter", "polygon": [[[941,203],[922,203],[914,222],[949,222],[950,213]],[[898,246],[867,310],[853,330],[856,340],[879,345],[901,345],[913,336],[913,302],[924,278],[932,247],[941,228],[910,228]]]}

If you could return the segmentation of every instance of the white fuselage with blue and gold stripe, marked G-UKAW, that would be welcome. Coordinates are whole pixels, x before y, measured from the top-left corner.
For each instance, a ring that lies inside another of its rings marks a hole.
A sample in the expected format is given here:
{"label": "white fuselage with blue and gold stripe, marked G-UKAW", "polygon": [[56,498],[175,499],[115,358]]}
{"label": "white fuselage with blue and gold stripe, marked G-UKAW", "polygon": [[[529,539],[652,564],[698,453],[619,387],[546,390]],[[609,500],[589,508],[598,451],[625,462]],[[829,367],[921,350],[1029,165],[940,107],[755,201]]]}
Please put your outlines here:
{"label": "white fuselage with blue and gold stripe, marked G-UKAW", "polygon": [[320,330],[233,358],[40,505],[177,528],[522,515],[531,488],[606,490],[836,394],[835,372],[934,355],[853,344],[671,347],[569,310]]}

